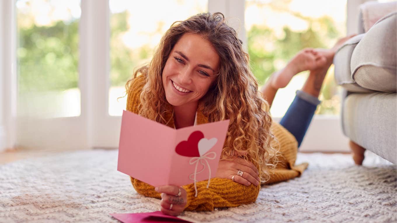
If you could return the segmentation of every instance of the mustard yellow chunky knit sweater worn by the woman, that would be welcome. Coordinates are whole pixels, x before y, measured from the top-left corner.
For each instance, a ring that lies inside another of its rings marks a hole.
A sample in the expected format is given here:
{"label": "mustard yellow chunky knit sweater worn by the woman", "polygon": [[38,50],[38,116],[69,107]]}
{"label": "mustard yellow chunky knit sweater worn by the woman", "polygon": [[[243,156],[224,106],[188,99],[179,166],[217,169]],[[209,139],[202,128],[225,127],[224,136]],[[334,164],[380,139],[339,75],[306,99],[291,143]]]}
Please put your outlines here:
{"label": "mustard yellow chunky knit sweater worn by the woman", "polygon": [[[128,111],[138,113],[139,96],[144,85],[145,78],[143,75],[135,78],[131,82],[127,98]],[[168,113],[165,115],[165,118],[168,120],[171,118],[171,115],[171,113]],[[197,125],[203,123],[208,123],[208,118],[198,110]],[[171,119],[168,126],[174,127],[173,119]],[[297,141],[291,133],[278,123],[272,124],[272,133],[280,143],[282,157],[279,158],[281,162],[278,163],[276,169],[270,172],[270,180],[267,181],[266,184],[298,177],[308,165],[307,163],[295,165]],[[148,185],[133,177],[131,177],[131,183],[138,193],[161,199],[160,193],[154,190],[154,186]],[[197,182],[197,197],[195,197],[195,187],[193,183],[183,186],[187,191],[187,205],[185,206],[185,211],[212,211],[214,208],[237,207],[241,204],[249,204],[255,202],[260,190],[260,185],[255,186],[251,184],[250,186],[245,186],[233,182],[231,179],[213,178],[211,179],[209,188],[206,187],[207,183],[208,181]]]}

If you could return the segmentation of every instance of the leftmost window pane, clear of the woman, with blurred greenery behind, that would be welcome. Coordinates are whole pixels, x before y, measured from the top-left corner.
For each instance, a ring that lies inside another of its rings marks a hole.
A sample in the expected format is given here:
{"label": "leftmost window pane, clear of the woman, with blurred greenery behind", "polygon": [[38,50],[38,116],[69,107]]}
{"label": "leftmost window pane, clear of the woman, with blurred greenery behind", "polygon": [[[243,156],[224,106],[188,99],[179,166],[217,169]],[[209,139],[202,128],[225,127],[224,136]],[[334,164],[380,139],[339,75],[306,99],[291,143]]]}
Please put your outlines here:
{"label": "leftmost window pane, clear of the woman, with blurred greenery behind", "polygon": [[80,115],[80,0],[17,0],[18,115]]}

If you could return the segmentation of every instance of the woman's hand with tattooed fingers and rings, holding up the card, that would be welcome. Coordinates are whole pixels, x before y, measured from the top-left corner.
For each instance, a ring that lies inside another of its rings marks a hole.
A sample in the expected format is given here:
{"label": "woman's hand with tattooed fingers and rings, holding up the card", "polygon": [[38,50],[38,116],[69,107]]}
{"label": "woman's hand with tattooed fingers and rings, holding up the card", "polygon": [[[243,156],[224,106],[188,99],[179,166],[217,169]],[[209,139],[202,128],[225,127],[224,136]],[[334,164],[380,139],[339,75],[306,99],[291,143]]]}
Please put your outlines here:
{"label": "woman's hand with tattooed fingers and rings, holding up the card", "polygon": [[161,212],[167,215],[177,216],[185,210],[187,204],[187,192],[179,186],[165,185],[154,188],[161,193]]}

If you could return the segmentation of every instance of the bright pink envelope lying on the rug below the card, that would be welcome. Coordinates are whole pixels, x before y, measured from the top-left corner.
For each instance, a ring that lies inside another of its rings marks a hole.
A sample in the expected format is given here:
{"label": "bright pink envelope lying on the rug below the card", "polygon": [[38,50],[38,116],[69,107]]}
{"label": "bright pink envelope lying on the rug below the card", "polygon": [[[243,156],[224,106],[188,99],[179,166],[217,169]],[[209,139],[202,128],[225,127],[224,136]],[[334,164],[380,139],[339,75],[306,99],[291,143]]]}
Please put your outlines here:
{"label": "bright pink envelope lying on the rug below the card", "polygon": [[147,212],[147,213],[110,213],[114,218],[123,223],[132,222],[185,222],[190,221],[183,220],[179,217],[171,215],[165,215],[161,211]]}

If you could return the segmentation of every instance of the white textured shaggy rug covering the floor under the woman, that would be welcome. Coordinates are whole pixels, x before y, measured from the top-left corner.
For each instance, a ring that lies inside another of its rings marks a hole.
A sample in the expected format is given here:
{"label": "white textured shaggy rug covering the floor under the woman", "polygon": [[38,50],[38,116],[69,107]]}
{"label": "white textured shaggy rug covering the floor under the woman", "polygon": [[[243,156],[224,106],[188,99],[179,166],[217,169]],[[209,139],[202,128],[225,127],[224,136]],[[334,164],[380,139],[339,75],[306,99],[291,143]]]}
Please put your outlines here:
{"label": "white textured shaggy rug covering the floor under the woman", "polygon": [[[371,154],[370,154],[371,155]],[[367,154],[299,154],[299,178],[262,186],[255,203],[185,211],[195,222],[396,222],[396,166]],[[118,172],[117,150],[85,150],[0,165],[0,222],[114,222],[109,213],[157,211]]]}

